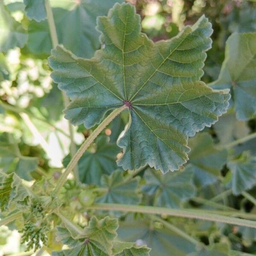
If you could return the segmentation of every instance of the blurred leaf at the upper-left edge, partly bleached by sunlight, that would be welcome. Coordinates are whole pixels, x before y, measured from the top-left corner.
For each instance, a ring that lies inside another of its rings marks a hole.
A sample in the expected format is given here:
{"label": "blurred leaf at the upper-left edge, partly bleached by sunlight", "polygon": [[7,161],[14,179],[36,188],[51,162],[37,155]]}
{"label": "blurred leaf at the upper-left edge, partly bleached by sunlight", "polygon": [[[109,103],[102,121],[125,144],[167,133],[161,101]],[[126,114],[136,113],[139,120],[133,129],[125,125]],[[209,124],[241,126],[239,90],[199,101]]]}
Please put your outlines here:
{"label": "blurred leaf at the upper-left edge, partly bleached by sunlight", "polygon": [[0,52],[14,47],[22,48],[27,42],[26,30],[17,22],[0,2]]}

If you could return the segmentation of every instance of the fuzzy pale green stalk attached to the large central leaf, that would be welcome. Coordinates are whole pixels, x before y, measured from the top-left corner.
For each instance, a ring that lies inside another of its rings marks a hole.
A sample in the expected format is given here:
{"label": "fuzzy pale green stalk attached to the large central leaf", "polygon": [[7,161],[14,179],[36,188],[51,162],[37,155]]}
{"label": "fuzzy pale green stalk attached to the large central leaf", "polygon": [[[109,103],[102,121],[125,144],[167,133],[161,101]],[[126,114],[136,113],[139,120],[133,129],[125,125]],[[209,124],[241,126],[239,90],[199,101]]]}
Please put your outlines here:
{"label": "fuzzy pale green stalk attached to the large central leaf", "polygon": [[73,168],[76,166],[77,162],[79,161],[82,154],[84,154],[84,151],[90,146],[91,143],[93,143],[93,140],[96,139],[96,137],[101,133],[101,131],[116,117],[121,113],[125,108],[127,108],[125,105],[123,105],[120,108],[116,108],[114,111],[112,111],[100,124],[99,126],[90,134],[90,136],[87,138],[87,140],[81,145],[79,150],[76,152],[74,157],[71,159],[70,163],[68,164],[65,172],[61,175],[61,177],[58,179],[57,185],[54,189],[55,194],[58,194],[61,187],[64,185],[67,176],[70,174],[70,172],[73,170]]}

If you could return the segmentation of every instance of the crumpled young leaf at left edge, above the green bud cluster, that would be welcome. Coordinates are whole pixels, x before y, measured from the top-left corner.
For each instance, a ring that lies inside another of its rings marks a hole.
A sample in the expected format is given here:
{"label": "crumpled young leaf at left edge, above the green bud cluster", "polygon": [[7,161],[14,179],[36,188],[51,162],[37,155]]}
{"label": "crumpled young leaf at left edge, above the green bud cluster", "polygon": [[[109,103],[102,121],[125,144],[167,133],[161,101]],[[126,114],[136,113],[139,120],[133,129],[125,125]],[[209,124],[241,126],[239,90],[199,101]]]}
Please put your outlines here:
{"label": "crumpled young leaf at left edge, above the green bud cluster", "polygon": [[14,172],[6,175],[0,172],[0,209],[8,210],[10,204],[16,208],[26,207],[31,199],[29,189]]}

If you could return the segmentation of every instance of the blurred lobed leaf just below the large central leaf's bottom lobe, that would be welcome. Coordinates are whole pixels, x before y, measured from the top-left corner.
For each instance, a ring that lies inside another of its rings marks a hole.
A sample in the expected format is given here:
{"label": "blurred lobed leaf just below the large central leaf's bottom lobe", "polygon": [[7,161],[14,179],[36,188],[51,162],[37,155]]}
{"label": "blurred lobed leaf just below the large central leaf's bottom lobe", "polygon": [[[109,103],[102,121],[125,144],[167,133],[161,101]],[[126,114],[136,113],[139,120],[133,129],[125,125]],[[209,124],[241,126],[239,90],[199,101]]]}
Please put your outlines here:
{"label": "blurred lobed leaf just below the large central leaf's bottom lobe", "polygon": [[179,208],[183,201],[195,195],[193,185],[193,172],[169,172],[162,175],[161,172],[148,168],[144,173],[146,185],[142,190],[149,195],[157,193],[156,205],[160,207]]}

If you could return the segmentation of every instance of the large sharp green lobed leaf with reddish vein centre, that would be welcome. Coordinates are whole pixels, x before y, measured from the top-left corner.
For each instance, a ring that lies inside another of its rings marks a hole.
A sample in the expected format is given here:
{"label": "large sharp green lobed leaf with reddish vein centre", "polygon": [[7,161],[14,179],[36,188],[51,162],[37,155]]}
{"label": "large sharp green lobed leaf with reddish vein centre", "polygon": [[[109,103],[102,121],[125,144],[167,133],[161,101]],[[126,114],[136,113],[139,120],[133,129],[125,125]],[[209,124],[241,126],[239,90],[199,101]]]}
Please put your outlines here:
{"label": "large sharp green lobed leaf with reddish vein centre", "polygon": [[140,17],[130,4],[115,4],[99,17],[102,49],[92,59],[77,58],[64,47],[52,50],[52,79],[72,100],[65,117],[86,128],[108,111],[126,105],[130,120],[118,140],[118,166],[148,164],[163,173],[188,160],[188,137],[226,112],[228,90],[199,81],[211,24],[201,17],[177,37],[153,43],[140,32]]}

